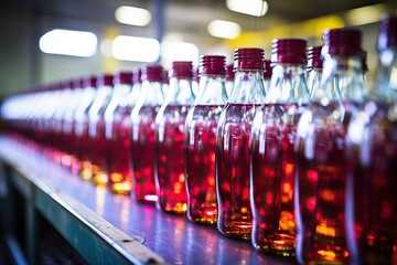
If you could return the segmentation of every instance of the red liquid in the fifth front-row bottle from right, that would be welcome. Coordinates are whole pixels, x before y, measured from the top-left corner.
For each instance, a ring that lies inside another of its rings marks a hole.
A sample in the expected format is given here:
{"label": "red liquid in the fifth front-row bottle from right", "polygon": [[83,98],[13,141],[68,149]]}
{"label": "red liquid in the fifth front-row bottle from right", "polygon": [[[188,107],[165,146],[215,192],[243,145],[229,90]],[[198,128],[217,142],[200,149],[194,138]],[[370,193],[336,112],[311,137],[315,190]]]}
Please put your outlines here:
{"label": "red liquid in the fifth front-row bottle from right", "polygon": [[187,218],[198,223],[215,224],[217,219],[215,150],[216,126],[222,108],[194,106],[194,121],[186,127]]}

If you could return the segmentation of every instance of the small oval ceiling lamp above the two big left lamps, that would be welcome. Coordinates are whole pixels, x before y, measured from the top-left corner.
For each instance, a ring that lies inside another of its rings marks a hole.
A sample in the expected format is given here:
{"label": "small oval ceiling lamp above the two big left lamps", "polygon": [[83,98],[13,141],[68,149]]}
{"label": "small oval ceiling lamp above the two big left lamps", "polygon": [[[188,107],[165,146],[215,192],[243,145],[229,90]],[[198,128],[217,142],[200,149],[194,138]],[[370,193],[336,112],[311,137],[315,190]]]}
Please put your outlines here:
{"label": "small oval ceiling lamp above the two big left lamps", "polygon": [[150,23],[151,13],[146,9],[121,6],[116,9],[115,18],[122,24],[144,26]]}

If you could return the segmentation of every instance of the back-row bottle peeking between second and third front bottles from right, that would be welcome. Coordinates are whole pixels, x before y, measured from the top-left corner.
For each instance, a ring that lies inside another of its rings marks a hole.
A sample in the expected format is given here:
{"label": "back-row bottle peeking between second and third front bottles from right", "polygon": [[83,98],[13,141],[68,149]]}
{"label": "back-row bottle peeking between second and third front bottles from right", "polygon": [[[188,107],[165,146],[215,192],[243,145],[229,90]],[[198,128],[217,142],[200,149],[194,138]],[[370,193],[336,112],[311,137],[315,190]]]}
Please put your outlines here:
{"label": "back-row bottle peeking between second and third front bottles from right", "polygon": [[321,82],[322,75],[322,57],[321,57],[322,46],[310,46],[308,49],[308,89],[313,97],[313,92],[318,89]]}

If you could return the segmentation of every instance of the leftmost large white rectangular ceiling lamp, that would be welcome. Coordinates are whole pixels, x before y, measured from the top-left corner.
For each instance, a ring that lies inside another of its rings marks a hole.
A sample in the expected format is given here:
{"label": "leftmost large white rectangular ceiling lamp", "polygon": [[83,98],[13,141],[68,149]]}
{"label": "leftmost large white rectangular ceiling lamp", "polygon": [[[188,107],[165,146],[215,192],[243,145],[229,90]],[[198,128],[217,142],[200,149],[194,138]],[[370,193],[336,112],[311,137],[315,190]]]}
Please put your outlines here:
{"label": "leftmost large white rectangular ceiling lamp", "polygon": [[55,29],[40,38],[43,53],[89,57],[97,49],[97,38],[92,32]]}

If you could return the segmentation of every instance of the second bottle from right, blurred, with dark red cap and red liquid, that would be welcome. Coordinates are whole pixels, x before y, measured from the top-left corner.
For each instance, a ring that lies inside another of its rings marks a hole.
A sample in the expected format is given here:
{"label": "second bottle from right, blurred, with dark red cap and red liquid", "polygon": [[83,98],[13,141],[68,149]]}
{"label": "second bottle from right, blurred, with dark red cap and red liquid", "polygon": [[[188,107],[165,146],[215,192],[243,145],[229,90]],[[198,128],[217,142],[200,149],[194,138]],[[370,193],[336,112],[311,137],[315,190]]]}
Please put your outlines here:
{"label": "second bottle from right, blurred, with dark red cap and red liquid", "polygon": [[361,31],[353,28],[323,32],[321,84],[312,92],[312,102],[297,129],[294,202],[299,263],[350,261],[345,134],[352,106],[365,94],[360,86],[361,40]]}

